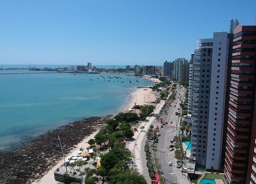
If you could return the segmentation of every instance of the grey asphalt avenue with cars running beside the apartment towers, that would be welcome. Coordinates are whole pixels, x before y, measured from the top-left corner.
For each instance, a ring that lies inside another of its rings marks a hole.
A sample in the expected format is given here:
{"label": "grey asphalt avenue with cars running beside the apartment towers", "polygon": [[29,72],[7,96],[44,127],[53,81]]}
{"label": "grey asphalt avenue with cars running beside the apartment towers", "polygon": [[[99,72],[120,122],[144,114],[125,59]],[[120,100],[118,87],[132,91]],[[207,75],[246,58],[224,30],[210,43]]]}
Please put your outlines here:
{"label": "grey asphalt avenue with cars running beside the apartment towers", "polygon": [[[163,120],[163,123],[167,122],[168,124],[163,125],[163,128],[160,128],[160,131],[159,131],[161,136],[158,137],[159,142],[157,143],[157,155],[158,155],[159,162],[161,160],[161,163],[160,163],[161,169],[163,171],[164,180],[166,184],[169,184],[169,181],[168,181],[169,178],[170,178],[170,183],[178,183],[178,184],[188,183],[187,173],[182,173],[181,168],[176,167],[177,160],[174,158],[175,156],[174,150],[170,151],[168,149],[170,146],[170,140],[173,139],[175,135],[179,134],[180,118],[179,116],[175,115],[175,112],[182,113],[181,110],[177,110],[177,108],[180,108],[179,103],[181,102],[181,100],[179,99],[179,97],[181,96],[182,99],[184,99],[184,94],[185,94],[185,89],[184,88],[179,89],[179,87],[177,87],[176,99],[172,102],[172,104],[170,104],[167,115]],[[176,107],[174,107],[175,104],[176,104]],[[173,122],[173,124],[170,124],[170,122]],[[154,126],[157,126],[157,125],[159,126],[159,124],[157,123],[154,124]],[[160,126],[161,125],[162,124],[160,124]],[[176,130],[176,125],[178,125],[177,130]],[[168,162],[172,162],[173,166],[168,166]]]}

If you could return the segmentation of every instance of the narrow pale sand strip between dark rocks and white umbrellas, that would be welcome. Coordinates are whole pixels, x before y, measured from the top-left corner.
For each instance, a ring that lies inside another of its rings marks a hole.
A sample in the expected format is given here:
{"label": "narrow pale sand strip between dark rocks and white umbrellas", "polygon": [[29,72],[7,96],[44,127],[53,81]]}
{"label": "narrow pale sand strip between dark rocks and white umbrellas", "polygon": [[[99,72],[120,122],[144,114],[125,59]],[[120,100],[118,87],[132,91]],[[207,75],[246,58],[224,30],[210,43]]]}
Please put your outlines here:
{"label": "narrow pale sand strip between dark rocks and white umbrellas", "polygon": [[[97,130],[96,132],[93,132],[91,135],[89,135],[88,137],[84,138],[82,142],[80,142],[78,145],[75,145],[76,148],[74,148],[72,151],[70,151],[70,153],[68,155],[71,155],[72,152],[79,150],[79,148],[84,148],[86,149],[87,147],[89,147],[90,145],[88,144],[88,141],[90,139],[93,139],[94,136],[99,132],[99,130]],[[68,156],[66,155],[66,156]],[[52,167],[41,179],[33,182],[32,184],[58,184],[58,181],[54,180],[54,171],[59,168],[62,164],[64,163],[64,160],[60,160],[54,167]]]}

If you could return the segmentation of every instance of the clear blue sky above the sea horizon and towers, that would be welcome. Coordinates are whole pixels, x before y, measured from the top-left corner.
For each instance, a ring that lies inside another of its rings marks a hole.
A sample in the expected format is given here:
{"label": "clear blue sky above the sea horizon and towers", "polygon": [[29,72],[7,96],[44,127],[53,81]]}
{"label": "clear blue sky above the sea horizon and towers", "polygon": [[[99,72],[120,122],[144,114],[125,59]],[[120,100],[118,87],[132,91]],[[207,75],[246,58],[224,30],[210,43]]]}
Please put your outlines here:
{"label": "clear blue sky above the sea horizon and towers", "polygon": [[163,65],[255,15],[255,0],[0,0],[0,63]]}

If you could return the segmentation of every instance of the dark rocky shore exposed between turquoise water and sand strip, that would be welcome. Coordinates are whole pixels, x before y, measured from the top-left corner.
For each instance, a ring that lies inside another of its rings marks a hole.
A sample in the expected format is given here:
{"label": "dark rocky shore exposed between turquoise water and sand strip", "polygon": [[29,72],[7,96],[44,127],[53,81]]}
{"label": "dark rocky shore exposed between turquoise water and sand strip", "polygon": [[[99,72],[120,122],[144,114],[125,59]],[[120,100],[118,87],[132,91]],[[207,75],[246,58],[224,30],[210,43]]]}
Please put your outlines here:
{"label": "dark rocky shore exposed between turquoise water and sand strip", "polygon": [[74,145],[101,128],[112,116],[91,117],[47,131],[36,139],[7,153],[0,152],[0,183],[24,184],[41,178],[61,159],[58,140],[68,154]]}

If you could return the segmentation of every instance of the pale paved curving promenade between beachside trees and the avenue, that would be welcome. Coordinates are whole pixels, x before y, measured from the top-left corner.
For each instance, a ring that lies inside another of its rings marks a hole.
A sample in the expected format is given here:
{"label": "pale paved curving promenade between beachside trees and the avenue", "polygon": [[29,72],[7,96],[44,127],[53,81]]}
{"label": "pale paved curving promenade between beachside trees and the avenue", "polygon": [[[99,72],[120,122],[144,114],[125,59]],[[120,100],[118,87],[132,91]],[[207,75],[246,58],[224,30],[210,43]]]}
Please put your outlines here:
{"label": "pale paved curving promenade between beachside trees and the avenue", "polygon": [[[157,104],[154,112],[152,112],[152,114],[159,114],[161,108],[163,107],[165,101],[162,100],[159,104]],[[142,122],[140,124],[140,126],[144,126],[145,128],[143,129],[143,131],[140,130],[139,127],[138,128],[138,132],[134,133],[133,138],[135,139],[135,141],[131,141],[131,142],[127,142],[127,148],[133,153],[134,155],[134,163],[137,165],[137,169],[138,171],[144,175],[147,183],[151,184],[152,180],[149,177],[149,173],[148,173],[148,167],[147,167],[147,160],[146,160],[146,153],[145,153],[145,141],[147,139],[147,131],[150,127],[151,124],[155,124],[156,123],[156,117],[155,116],[151,116],[151,117],[147,117],[146,121]],[[135,144],[137,146],[135,146]]]}

